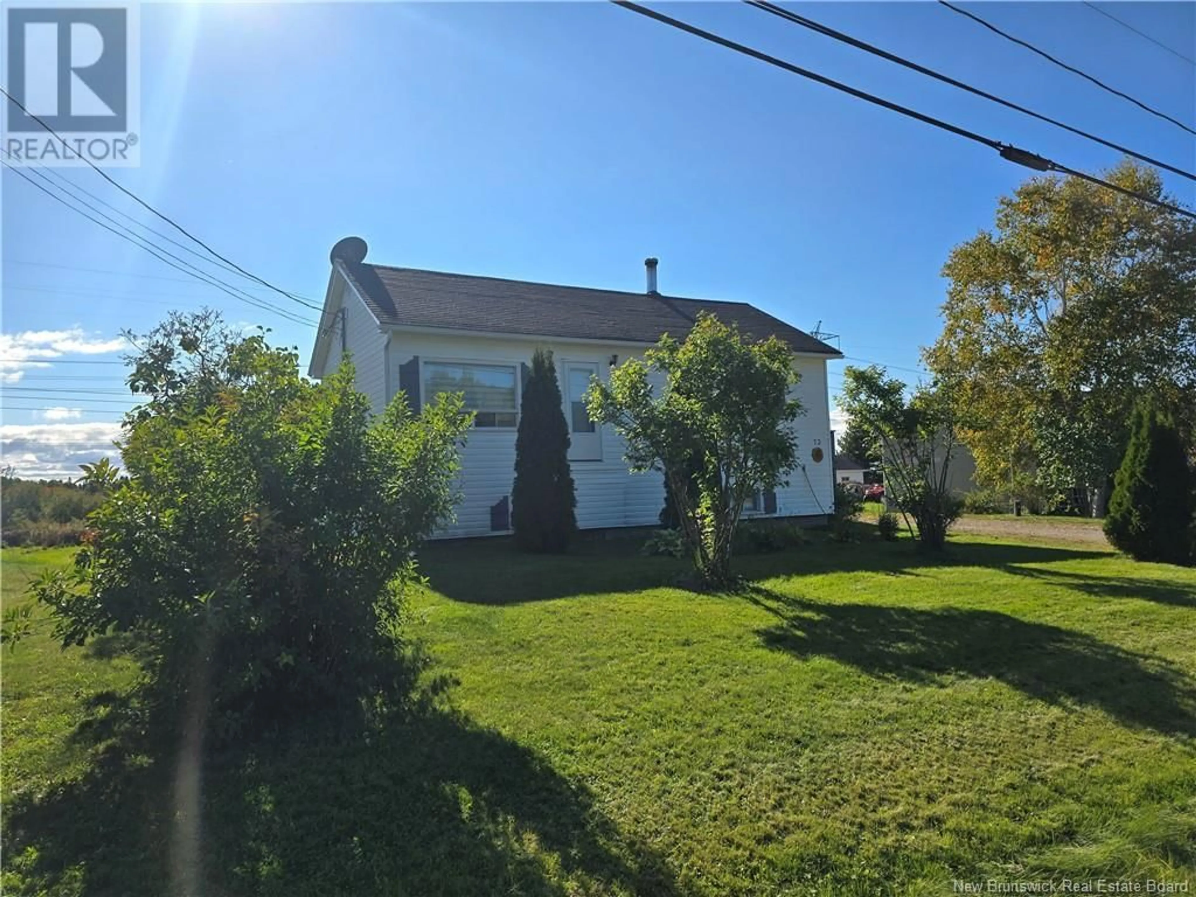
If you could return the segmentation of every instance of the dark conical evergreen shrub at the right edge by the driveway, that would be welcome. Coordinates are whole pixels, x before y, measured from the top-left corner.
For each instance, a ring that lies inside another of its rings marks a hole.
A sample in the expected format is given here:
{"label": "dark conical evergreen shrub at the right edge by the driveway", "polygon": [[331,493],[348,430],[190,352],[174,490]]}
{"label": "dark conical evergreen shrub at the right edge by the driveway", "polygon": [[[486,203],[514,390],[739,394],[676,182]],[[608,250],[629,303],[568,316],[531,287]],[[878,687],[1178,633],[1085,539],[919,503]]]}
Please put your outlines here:
{"label": "dark conical evergreen shrub at the right edge by the driveway", "polygon": [[1130,417],[1105,535],[1137,561],[1188,563],[1191,520],[1191,474],[1179,431],[1158,405],[1141,401]]}

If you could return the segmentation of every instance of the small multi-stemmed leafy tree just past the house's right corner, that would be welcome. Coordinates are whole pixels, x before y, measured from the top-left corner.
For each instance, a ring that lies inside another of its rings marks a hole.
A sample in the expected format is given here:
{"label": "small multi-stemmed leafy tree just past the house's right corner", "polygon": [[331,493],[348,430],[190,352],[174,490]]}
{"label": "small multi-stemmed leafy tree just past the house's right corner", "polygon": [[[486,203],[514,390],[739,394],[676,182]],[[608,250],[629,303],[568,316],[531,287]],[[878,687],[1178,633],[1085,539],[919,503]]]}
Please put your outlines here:
{"label": "small multi-stemmed leafy tree just past the house's right corner", "polygon": [[[905,384],[884,368],[848,367],[840,405],[880,444],[887,496],[897,502],[923,548],[940,550],[959,517],[951,492],[951,462],[958,446],[950,390],[922,388],[905,398]],[[916,529],[915,529],[916,527]]]}

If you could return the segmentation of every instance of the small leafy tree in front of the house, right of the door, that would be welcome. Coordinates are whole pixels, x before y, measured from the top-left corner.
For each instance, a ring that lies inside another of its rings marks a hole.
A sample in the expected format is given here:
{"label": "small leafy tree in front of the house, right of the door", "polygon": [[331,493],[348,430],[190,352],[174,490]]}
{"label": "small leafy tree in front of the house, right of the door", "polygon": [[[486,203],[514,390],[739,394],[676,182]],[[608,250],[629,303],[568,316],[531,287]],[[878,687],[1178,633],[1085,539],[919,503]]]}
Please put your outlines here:
{"label": "small leafy tree in front of the house, right of the door", "polygon": [[[659,393],[649,373],[664,376]],[[775,337],[745,341],[739,330],[701,315],[684,342],[664,336],[645,359],[594,384],[590,416],[614,425],[627,440],[633,470],[664,471],[681,529],[700,579],[724,586],[744,500],[775,489],[793,469],[793,421],[801,405],[789,395],[798,380],[793,353]],[[688,476],[696,463],[696,495]]]}

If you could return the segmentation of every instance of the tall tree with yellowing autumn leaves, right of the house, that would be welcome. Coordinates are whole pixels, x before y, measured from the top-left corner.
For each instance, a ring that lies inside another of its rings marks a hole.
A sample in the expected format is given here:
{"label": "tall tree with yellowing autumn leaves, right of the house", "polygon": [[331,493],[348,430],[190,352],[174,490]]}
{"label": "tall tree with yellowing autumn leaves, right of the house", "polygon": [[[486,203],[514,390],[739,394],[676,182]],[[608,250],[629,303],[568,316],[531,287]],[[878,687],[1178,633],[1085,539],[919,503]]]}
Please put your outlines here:
{"label": "tall tree with yellowing autumn leaves, right of the house", "polygon": [[[1105,179],[1163,196],[1158,173],[1130,161]],[[1135,397],[1149,388],[1196,409],[1196,227],[1107,188],[1037,177],[942,273],[945,324],[926,359],[952,384],[977,478],[1081,487],[1102,513]]]}

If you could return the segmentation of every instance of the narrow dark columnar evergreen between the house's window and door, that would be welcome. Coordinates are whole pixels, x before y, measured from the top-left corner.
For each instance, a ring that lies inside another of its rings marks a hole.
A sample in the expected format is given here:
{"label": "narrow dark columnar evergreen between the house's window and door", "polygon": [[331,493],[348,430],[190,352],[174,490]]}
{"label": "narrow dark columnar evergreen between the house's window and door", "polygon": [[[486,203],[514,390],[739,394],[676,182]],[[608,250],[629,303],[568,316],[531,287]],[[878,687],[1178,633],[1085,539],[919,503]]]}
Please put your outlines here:
{"label": "narrow dark columnar evergreen between the house's window and door", "polygon": [[553,353],[536,349],[524,386],[515,437],[511,524],[524,551],[562,553],[578,529],[569,471],[569,427]]}

